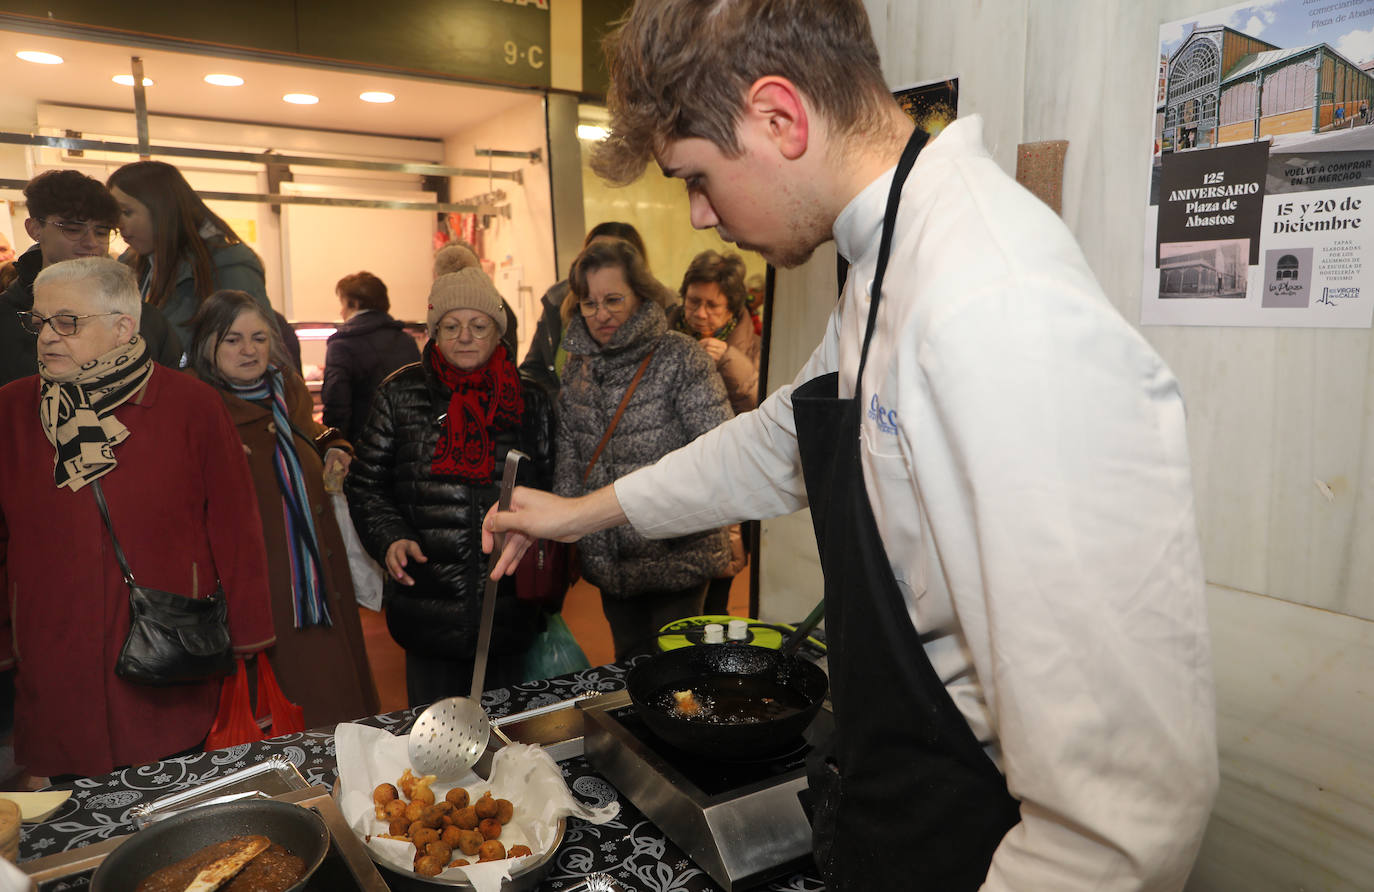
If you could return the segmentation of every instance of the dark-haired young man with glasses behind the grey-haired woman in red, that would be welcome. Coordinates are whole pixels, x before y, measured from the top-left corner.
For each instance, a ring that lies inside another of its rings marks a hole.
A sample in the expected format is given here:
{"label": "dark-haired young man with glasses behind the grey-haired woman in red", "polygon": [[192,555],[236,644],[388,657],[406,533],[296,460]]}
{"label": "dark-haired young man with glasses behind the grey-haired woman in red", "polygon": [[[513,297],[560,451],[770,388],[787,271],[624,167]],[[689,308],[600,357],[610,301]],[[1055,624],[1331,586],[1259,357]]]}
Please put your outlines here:
{"label": "dark-haired young man with glasses behind the grey-haired woman in red", "polygon": [[[45,170],[23,187],[29,219],[23,230],[34,245],[15,261],[19,278],[0,296],[0,385],[38,371],[33,335],[16,313],[33,308],[33,280],[45,267],[77,257],[109,257],[120,206],[104,186],[78,170]],[[147,306],[139,333],[153,359],[181,368],[185,356],[162,311]]]}

